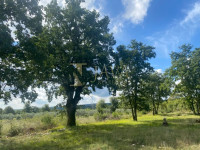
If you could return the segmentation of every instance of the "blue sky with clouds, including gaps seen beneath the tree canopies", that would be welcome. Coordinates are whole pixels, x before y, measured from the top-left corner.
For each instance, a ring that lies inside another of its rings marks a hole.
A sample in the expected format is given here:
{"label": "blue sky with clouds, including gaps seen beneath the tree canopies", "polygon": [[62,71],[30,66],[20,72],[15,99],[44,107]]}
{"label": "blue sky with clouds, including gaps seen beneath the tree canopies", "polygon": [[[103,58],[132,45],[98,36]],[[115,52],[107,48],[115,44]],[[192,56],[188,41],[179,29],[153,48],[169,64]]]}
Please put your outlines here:
{"label": "blue sky with clouds, including gaps seen beneath the tree canopies", "polygon": [[[178,51],[182,44],[200,47],[200,0],[85,0],[82,7],[96,9],[101,16],[109,16],[110,31],[120,44],[128,45],[132,39],[154,46],[157,56],[151,60],[158,72],[170,67],[170,53]],[[46,5],[50,0],[41,0]],[[58,0],[64,6],[64,0]],[[115,46],[115,47],[116,47]],[[38,89],[38,100],[34,106],[41,107],[47,103],[45,92]],[[110,95],[106,88],[97,90],[80,102],[95,103],[103,97],[106,101]],[[53,106],[62,101],[54,100]],[[4,108],[3,102],[0,102]],[[9,105],[22,108],[20,99],[14,99]]]}

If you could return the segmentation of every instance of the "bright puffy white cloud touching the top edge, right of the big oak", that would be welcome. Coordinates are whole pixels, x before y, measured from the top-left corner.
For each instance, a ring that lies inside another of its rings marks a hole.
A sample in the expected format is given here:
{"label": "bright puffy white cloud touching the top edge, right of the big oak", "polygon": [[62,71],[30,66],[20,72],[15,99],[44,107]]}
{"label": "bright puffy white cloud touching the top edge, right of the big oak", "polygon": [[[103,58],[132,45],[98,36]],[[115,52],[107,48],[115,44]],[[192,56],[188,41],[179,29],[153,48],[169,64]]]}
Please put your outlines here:
{"label": "bright puffy white cloud touching the top edge, right of the big oak", "polygon": [[151,0],[122,0],[125,6],[124,18],[133,24],[143,22],[149,8]]}

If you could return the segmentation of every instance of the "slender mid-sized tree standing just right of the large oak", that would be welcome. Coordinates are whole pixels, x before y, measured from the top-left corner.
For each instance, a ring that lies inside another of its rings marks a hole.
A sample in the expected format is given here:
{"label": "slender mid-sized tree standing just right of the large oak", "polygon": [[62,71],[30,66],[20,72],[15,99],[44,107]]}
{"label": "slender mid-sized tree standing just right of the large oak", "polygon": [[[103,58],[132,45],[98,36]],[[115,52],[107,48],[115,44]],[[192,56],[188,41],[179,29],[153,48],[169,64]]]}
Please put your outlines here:
{"label": "slender mid-sized tree standing just right of the large oak", "polygon": [[154,58],[156,53],[154,47],[144,45],[135,40],[126,47],[121,45],[117,48],[118,61],[121,73],[118,75],[117,85],[122,91],[121,96],[132,111],[133,120],[137,121],[138,104],[141,102],[142,82],[153,70],[149,60]]}

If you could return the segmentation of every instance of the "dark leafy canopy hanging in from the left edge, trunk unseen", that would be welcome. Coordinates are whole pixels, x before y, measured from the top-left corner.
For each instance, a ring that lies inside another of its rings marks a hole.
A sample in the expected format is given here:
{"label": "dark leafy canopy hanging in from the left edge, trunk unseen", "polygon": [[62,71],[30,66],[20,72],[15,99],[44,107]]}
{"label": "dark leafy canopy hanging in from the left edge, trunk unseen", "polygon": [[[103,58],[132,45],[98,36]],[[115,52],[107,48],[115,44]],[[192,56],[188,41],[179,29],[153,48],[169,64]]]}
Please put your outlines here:
{"label": "dark leafy canopy hanging in from the left edge, trunk unseen", "polygon": [[0,99],[5,103],[17,95],[23,100],[37,97],[28,92],[33,79],[22,48],[30,36],[41,32],[41,22],[38,0],[0,1]]}

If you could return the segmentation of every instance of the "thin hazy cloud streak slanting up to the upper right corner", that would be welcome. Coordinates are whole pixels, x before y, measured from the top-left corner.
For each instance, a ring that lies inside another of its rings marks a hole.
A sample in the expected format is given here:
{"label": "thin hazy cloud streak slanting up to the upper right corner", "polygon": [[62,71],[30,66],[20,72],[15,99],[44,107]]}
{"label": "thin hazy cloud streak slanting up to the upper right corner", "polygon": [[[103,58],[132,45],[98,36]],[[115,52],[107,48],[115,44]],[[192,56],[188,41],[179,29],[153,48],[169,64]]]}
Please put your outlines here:
{"label": "thin hazy cloud streak slanting up to the upper right corner", "polygon": [[163,32],[147,37],[149,44],[156,47],[159,57],[169,58],[171,51],[175,51],[182,44],[191,42],[195,32],[200,28],[200,2],[193,4],[185,17],[174,22]]}

